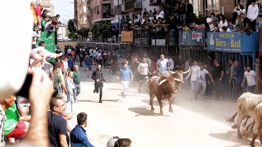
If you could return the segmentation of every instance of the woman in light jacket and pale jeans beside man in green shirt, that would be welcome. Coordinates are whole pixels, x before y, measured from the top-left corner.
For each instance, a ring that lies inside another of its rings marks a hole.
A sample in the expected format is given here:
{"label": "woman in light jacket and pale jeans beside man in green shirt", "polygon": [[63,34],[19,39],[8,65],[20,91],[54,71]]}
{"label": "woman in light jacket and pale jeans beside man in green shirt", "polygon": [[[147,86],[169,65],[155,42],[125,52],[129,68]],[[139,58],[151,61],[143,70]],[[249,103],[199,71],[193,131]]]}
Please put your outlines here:
{"label": "woman in light jacket and pale jeans beside man in green shirt", "polygon": [[69,103],[71,100],[71,112],[74,110],[74,93],[73,89],[75,88],[74,82],[73,82],[73,72],[68,72],[68,77],[66,79],[66,90],[67,90],[67,102],[66,102],[66,113],[68,112],[67,109],[69,107]]}

